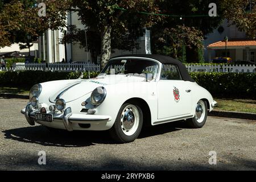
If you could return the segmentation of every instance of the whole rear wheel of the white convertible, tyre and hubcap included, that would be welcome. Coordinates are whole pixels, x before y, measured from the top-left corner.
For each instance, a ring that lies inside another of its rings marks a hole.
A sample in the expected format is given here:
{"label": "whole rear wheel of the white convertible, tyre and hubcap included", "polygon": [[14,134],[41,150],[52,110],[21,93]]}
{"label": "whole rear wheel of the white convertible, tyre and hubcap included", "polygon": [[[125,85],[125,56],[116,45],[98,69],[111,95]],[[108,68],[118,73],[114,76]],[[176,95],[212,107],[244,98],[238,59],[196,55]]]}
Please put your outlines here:
{"label": "whole rear wheel of the white convertible, tyre and hubcap included", "polygon": [[187,123],[193,129],[199,129],[204,126],[207,120],[208,108],[207,102],[200,100],[195,108],[195,117],[188,119]]}

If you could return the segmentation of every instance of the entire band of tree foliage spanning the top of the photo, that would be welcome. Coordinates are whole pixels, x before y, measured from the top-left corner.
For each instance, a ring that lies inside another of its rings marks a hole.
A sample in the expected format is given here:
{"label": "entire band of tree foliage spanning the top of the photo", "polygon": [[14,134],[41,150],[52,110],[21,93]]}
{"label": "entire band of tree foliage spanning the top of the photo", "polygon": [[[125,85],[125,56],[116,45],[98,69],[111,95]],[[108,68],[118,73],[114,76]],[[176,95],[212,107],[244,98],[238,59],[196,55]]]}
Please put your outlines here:
{"label": "entire band of tree foliage spanning the top of the photo", "polygon": [[[39,2],[46,3],[46,17],[38,16]],[[218,16],[197,16],[208,15],[209,3],[217,4]],[[154,53],[180,57],[184,44],[188,51],[198,52],[204,35],[225,18],[255,38],[255,4],[256,0],[0,0],[0,47],[30,46],[27,35],[32,42],[48,29],[66,28],[67,11],[73,7],[85,26],[92,57],[101,55],[102,66],[113,49],[138,48],[142,28],[152,30]],[[85,48],[85,31],[70,26],[62,42]]]}

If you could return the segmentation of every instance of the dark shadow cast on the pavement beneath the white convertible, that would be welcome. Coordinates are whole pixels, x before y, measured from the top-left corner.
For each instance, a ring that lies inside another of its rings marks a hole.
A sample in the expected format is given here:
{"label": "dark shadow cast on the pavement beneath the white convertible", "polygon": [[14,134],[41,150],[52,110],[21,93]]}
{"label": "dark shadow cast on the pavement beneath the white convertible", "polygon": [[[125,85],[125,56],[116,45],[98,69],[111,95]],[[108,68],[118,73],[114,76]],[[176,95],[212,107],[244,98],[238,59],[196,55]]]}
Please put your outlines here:
{"label": "dark shadow cast on the pavement beneath the white convertible", "polygon": [[[174,132],[185,128],[182,122],[167,123],[165,125],[150,126],[143,128],[139,138],[147,138],[155,135]],[[36,143],[43,146],[56,147],[85,147],[101,144],[115,144],[110,137],[109,131],[59,131],[50,132],[44,126],[22,127],[2,131],[6,139],[13,139],[19,142]]]}

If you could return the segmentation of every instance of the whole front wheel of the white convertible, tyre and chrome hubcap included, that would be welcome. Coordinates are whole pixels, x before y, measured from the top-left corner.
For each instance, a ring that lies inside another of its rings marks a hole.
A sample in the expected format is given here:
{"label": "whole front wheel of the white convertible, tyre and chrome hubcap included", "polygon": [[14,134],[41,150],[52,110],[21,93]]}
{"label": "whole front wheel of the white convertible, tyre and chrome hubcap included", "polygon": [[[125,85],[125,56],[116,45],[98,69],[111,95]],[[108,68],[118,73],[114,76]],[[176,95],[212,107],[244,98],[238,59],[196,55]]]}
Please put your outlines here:
{"label": "whole front wheel of the white convertible, tyre and chrome hubcap included", "polygon": [[133,142],[141,133],[143,114],[136,104],[123,104],[117,114],[110,135],[119,143]]}

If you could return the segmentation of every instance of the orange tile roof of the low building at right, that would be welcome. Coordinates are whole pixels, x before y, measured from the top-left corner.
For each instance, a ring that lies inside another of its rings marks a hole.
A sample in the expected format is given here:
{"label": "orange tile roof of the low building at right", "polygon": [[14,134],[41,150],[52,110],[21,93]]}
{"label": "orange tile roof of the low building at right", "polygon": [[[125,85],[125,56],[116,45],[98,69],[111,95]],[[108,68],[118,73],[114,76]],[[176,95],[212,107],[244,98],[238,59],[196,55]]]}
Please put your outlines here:
{"label": "orange tile roof of the low building at right", "polygon": [[224,41],[209,44],[207,47],[238,47],[238,46],[256,46],[256,40],[229,40],[226,44]]}

